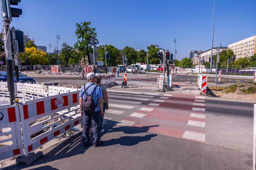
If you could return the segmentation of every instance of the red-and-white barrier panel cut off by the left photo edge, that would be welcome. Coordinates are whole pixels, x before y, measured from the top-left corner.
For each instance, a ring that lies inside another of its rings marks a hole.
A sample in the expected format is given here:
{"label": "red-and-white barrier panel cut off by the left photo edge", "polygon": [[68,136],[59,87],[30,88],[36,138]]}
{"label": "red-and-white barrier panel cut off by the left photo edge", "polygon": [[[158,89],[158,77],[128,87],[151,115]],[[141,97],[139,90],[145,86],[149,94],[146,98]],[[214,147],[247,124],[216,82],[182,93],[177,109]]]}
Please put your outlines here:
{"label": "red-and-white barrier panel cut off by the left photo edge", "polygon": [[0,105],[0,160],[23,155],[19,107]]}

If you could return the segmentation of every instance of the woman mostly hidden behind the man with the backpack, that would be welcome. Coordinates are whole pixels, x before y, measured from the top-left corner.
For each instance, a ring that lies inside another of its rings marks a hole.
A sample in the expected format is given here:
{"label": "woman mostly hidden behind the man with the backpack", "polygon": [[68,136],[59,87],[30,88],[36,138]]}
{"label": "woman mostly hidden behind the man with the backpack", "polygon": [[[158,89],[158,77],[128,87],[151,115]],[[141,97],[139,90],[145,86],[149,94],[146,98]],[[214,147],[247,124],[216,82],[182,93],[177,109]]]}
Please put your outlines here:
{"label": "woman mostly hidden behind the man with the backpack", "polygon": [[[103,113],[105,114],[105,110],[108,110],[108,92],[106,86],[101,84],[101,76],[97,75],[97,82],[96,85],[98,85],[101,88],[101,92],[103,95]],[[105,130],[102,128],[103,125],[103,117],[101,117],[101,125],[100,127],[100,133],[103,133]]]}

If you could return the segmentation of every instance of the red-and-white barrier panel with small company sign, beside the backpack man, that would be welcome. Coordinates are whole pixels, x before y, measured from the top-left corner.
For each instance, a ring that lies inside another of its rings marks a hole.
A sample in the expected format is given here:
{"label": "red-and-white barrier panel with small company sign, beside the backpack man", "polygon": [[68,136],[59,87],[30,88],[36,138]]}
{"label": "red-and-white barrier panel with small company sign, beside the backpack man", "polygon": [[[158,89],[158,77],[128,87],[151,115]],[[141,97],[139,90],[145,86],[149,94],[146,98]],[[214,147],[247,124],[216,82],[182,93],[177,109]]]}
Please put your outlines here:
{"label": "red-and-white barrier panel with small company sign, beside the backpack man", "polygon": [[25,102],[20,107],[25,155],[81,123],[79,109],[79,91]]}

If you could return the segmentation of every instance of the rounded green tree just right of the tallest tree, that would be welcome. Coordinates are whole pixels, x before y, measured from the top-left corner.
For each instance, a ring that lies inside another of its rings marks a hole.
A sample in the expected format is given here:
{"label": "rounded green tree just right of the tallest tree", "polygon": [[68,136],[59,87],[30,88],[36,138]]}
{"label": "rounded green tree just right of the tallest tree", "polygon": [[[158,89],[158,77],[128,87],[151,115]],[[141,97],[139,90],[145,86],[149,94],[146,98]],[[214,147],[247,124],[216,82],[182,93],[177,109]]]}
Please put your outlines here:
{"label": "rounded green tree just right of the tallest tree", "polygon": [[[122,63],[121,53],[115,46],[106,45],[106,51],[108,51],[109,55],[110,55],[110,58],[107,59],[107,62],[109,63],[109,65],[116,66],[116,65]],[[99,52],[98,61],[103,61],[103,65],[105,65],[105,55],[104,55],[105,45],[100,45],[98,52]],[[127,57],[127,55],[126,55],[126,57]]]}

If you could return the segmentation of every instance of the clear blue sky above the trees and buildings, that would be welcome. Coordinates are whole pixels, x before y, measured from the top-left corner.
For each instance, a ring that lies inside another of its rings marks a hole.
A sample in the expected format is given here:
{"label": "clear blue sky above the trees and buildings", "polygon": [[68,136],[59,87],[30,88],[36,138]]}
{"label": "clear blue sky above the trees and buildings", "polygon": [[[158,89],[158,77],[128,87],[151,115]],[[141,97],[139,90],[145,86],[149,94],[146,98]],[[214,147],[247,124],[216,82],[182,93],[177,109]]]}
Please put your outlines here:
{"label": "clear blue sky above the trees and buildings", "polygon": [[[23,14],[11,26],[35,38],[37,45],[74,45],[75,24],[91,21],[99,44],[135,50],[150,44],[174,52],[178,59],[190,50],[211,48],[213,0],[22,0]],[[256,0],[216,0],[214,46],[256,35]]]}

